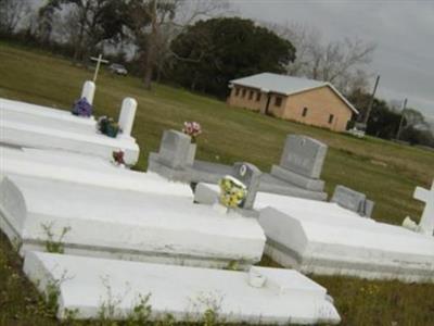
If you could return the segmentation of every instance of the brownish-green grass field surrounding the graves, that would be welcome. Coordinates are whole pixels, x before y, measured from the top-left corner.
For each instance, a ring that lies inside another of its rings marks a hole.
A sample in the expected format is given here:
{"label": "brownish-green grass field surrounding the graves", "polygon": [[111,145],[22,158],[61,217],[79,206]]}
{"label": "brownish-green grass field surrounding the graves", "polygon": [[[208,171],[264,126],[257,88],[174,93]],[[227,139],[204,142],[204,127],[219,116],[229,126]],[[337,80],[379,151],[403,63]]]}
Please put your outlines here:
{"label": "brownish-green grass field surrounding the graves", "polygon": [[[82,83],[91,77],[92,72],[62,58],[0,42],[0,97],[68,110]],[[196,121],[204,129],[197,141],[200,159],[243,160],[263,171],[279,162],[286,134],[308,135],[328,143],[322,173],[327,191],[342,184],[366,192],[376,202],[378,221],[400,224],[407,215],[417,220],[422,204],[412,199],[414,187],[429,187],[434,177],[434,153],[430,151],[285,122],[164,85],[146,91],[133,77],[103,72],[97,84],[97,115],[117,117],[127,96],[139,102],[132,133],[141,149],[139,170],[146,168],[148,153],[157,150],[164,129],[180,129],[184,121]],[[263,264],[273,263],[265,260]],[[20,268],[20,259],[1,236],[0,325],[55,325]],[[434,325],[434,285],[312,278],[335,299],[343,325]]]}

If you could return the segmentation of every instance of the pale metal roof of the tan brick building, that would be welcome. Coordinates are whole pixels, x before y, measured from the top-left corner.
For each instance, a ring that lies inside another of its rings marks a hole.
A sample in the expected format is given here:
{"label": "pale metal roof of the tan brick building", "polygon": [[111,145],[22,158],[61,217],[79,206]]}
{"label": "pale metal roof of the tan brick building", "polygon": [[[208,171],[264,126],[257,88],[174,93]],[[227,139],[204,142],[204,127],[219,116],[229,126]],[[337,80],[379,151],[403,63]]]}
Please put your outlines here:
{"label": "pale metal roof of the tan brick building", "polygon": [[319,82],[307,78],[292,77],[285,75],[278,75],[271,73],[261,73],[229,82],[232,85],[241,85],[245,87],[257,88],[264,92],[277,92],[282,95],[294,95],[297,92],[306,91],[314,88],[323,86],[330,87],[340,98],[347,104],[347,106],[356,114],[359,112],[352,103],[336,89],[334,86],[327,82]]}

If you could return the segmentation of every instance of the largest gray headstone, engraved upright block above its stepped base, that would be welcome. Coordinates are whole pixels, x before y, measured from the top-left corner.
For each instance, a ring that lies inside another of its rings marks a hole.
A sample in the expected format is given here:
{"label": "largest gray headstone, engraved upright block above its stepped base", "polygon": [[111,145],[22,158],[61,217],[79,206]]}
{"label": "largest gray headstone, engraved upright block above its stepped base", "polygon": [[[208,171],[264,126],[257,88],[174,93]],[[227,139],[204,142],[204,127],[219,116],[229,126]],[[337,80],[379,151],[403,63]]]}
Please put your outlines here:
{"label": "largest gray headstone, engraved upright block above its stepped base", "polygon": [[301,135],[289,135],[280,166],[301,175],[319,178],[327,154],[327,145]]}

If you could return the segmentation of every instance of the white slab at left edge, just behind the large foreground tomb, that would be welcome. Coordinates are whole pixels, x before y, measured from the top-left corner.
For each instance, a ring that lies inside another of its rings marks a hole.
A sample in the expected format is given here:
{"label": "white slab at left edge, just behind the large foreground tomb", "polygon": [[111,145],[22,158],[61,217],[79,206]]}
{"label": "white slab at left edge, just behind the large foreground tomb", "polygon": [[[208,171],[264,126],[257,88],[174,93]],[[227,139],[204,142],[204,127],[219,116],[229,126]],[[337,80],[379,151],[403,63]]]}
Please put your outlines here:
{"label": "white slab at left edge, just behind the large foreground tomb", "polygon": [[92,155],[56,150],[0,146],[0,175],[22,175],[118,190],[170,193],[192,198],[191,188],[154,173],[115,166]]}

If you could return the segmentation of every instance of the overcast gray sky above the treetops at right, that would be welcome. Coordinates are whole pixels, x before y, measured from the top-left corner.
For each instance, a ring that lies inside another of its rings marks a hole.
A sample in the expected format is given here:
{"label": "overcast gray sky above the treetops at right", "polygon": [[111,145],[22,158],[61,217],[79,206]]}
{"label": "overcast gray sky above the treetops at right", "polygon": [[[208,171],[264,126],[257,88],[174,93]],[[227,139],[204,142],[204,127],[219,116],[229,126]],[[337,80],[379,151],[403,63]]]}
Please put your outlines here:
{"label": "overcast gray sky above the treetops at right", "polygon": [[434,117],[434,0],[230,1],[244,17],[312,25],[331,40],[375,42],[370,71],[381,75],[378,96],[408,98],[408,106]]}

